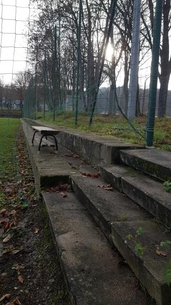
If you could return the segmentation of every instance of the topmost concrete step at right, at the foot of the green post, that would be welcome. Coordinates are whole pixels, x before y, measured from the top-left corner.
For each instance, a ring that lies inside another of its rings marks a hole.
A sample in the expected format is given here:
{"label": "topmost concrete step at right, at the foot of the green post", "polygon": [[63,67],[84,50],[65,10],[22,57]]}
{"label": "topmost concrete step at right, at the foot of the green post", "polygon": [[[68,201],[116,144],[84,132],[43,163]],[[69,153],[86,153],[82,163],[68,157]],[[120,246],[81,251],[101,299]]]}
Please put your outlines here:
{"label": "topmost concrete step at right, at the foot of the green post", "polygon": [[120,150],[121,161],[163,181],[171,180],[171,153],[157,149]]}

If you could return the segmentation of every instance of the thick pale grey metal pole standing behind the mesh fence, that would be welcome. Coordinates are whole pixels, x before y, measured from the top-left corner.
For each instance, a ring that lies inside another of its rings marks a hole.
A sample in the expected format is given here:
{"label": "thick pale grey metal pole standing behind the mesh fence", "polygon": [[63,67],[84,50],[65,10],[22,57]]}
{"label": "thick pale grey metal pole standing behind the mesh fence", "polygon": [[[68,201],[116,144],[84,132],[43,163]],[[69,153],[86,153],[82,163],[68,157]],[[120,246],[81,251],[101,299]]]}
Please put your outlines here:
{"label": "thick pale grey metal pole standing behind the mesh fence", "polygon": [[133,119],[136,114],[136,92],[139,76],[139,48],[140,48],[140,18],[141,0],[134,0],[133,3],[133,25],[132,25],[132,48],[130,59],[130,81],[128,97],[128,119]]}

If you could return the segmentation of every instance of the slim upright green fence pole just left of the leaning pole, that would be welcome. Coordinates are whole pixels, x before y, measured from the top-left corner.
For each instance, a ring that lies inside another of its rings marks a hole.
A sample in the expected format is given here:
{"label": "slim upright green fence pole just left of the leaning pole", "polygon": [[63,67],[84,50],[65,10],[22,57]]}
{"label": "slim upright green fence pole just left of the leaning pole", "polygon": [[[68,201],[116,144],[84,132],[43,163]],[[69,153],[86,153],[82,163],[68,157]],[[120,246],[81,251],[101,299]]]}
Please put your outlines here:
{"label": "slim upright green fence pole just left of the leaning pole", "polygon": [[81,43],[81,11],[82,11],[82,0],[80,0],[80,3],[79,3],[75,126],[77,126],[77,124],[78,124],[78,99],[79,99],[78,95],[79,95],[79,79],[80,79],[80,43]]}

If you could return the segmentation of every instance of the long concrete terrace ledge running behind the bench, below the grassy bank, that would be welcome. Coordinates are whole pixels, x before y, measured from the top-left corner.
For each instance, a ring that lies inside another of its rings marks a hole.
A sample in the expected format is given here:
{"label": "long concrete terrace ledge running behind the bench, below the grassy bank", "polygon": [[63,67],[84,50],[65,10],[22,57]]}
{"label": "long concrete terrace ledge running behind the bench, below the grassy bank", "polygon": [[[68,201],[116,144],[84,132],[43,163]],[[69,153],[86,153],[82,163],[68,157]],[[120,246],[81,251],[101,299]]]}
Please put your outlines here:
{"label": "long concrete terrace ledge running behind the bench, below the grassy bank", "polygon": [[[55,125],[48,125],[38,121],[24,119],[27,124],[55,128]],[[91,164],[104,162],[113,164],[120,162],[120,149],[142,148],[131,143],[125,143],[117,138],[105,138],[92,133],[78,132],[77,130],[67,130],[58,128],[60,133],[57,135],[58,143],[73,153],[84,158]]]}

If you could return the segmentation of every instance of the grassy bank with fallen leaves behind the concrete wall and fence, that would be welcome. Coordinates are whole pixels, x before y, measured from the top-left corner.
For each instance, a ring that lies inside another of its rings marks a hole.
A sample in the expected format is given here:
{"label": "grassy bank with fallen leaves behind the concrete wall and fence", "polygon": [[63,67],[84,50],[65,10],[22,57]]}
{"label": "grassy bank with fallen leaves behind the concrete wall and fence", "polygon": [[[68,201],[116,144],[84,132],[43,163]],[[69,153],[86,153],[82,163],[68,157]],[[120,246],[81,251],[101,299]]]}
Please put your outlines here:
{"label": "grassy bank with fallen leaves behind the concrete wall and fence", "polygon": [[[42,113],[38,113],[41,117]],[[39,121],[49,123],[51,126],[61,126],[68,129],[76,129],[78,131],[84,131],[88,133],[94,133],[105,137],[116,137],[121,141],[134,143],[134,144],[146,144],[146,121],[145,116],[136,118],[132,124],[136,130],[138,130],[143,137],[136,133],[127,121],[120,115],[107,116],[107,115],[95,115],[92,126],[89,126],[89,115],[79,114],[78,126],[75,127],[75,118],[73,112],[56,113],[55,121],[53,121],[52,113],[46,113],[45,119],[40,118]],[[154,146],[159,149],[171,151],[171,118],[156,118],[155,130],[154,130]]]}

